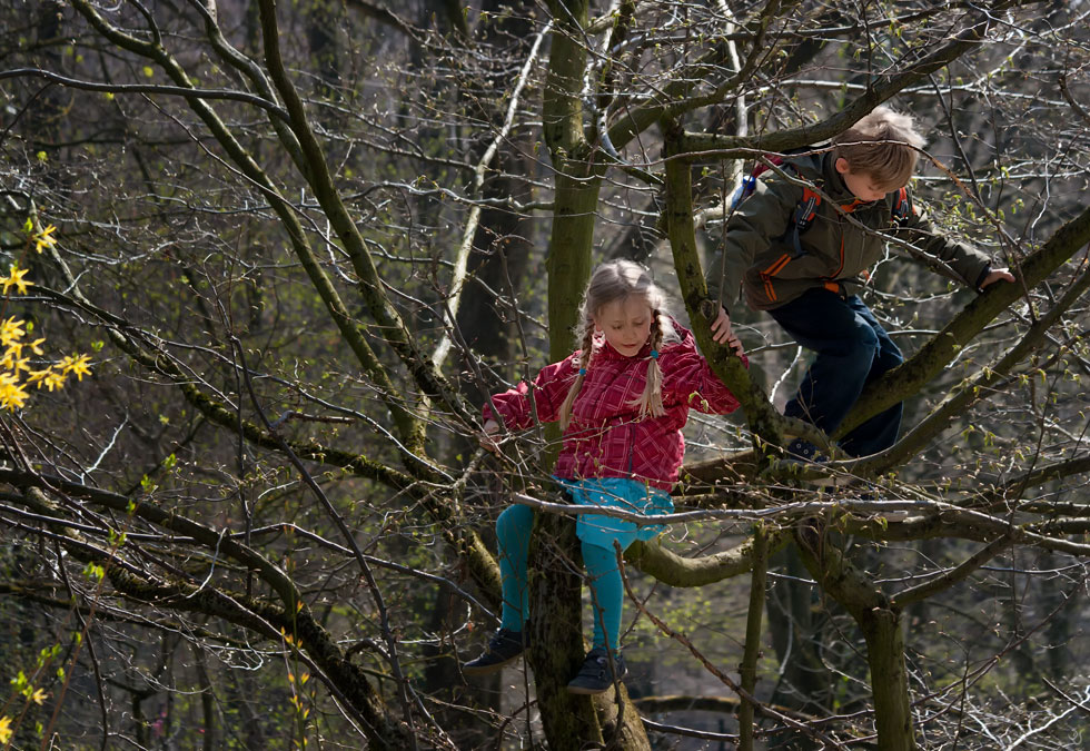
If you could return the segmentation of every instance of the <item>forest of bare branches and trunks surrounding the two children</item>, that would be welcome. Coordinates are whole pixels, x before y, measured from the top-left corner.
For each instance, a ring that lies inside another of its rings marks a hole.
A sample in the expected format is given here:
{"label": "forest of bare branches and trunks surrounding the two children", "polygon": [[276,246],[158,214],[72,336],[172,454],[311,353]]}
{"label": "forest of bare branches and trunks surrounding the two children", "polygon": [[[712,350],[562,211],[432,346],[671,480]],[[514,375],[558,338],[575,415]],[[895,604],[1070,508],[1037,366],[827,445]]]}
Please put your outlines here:
{"label": "forest of bare branches and trunks surrounding the two children", "polygon": [[[0,745],[1084,748],[1088,17],[4,3]],[[879,103],[928,136],[937,230],[1018,283],[978,296],[890,243],[866,300],[909,360],[842,429],[904,398],[902,436],[818,490],[775,461],[805,354],[764,315],[749,370],[714,345],[702,256],[755,161]],[[632,673],[591,700],[563,690],[556,433],[475,435],[616,257],[744,409],[691,421],[680,513],[624,560]],[[467,681],[516,498],[527,669]]]}

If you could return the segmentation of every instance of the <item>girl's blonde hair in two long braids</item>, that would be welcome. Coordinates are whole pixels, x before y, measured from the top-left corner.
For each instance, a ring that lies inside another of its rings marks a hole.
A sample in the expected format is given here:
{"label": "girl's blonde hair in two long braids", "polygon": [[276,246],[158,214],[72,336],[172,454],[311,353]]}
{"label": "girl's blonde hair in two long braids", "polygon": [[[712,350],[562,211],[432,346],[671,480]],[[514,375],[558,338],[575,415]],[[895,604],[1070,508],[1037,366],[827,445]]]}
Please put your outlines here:
{"label": "girl's blonde hair in two long braids", "polygon": [[611,303],[624,304],[630,297],[642,298],[651,308],[651,352],[647,358],[647,383],[643,394],[630,402],[640,409],[640,416],[661,417],[666,414],[662,404],[662,368],[658,367],[658,349],[663,342],[676,342],[677,334],[671,324],[666,310],[666,294],[656,285],[651,273],[640,264],[631,260],[613,260],[602,264],[591,275],[586,287],[581,310],[583,327],[583,345],[581,347],[578,366],[579,375],[567,392],[564,404],[561,405],[561,427],[566,428],[572,419],[572,405],[583,388],[583,381],[591,367],[594,354],[594,317],[602,308]]}

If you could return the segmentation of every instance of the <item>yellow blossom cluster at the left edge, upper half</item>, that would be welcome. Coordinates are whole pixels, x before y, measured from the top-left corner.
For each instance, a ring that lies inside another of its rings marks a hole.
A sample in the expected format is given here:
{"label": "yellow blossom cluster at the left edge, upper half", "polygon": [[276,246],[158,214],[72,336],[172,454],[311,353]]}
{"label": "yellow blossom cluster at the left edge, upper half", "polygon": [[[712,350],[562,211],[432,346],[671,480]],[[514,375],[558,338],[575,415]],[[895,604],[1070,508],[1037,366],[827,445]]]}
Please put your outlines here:
{"label": "yellow blossom cluster at the left edge, upper half", "polygon": [[[56,245],[57,240],[52,236],[56,227],[50,225],[44,229],[38,230],[33,223],[27,220],[27,238],[29,244],[33,244],[38,253],[44,248]],[[8,273],[0,275],[0,294],[7,297],[12,288],[19,295],[26,295],[33,281],[26,278],[28,269],[20,268],[19,263],[11,264]],[[68,355],[59,363],[49,364],[41,369],[34,369],[30,364],[30,355],[42,356],[44,338],[30,339],[27,336],[30,327],[26,320],[14,316],[0,318],[0,408],[14,411],[22,408],[30,394],[27,392],[29,386],[41,388],[44,386],[50,392],[65,386],[68,376],[75,375],[78,381],[82,381],[85,375],[91,374],[90,358],[87,355]],[[27,354],[29,353],[29,354]]]}

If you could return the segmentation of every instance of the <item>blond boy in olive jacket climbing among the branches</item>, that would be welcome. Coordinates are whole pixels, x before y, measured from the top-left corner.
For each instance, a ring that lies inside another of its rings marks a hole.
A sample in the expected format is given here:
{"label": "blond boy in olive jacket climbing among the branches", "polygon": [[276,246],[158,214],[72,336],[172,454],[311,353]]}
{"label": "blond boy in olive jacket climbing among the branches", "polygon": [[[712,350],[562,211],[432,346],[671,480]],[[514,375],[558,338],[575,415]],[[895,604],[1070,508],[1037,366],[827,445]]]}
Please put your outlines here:
{"label": "blond boy in olive jacket climbing among the branches", "polygon": [[[784,414],[826,434],[866,384],[903,360],[856,297],[866,269],[883,255],[881,233],[895,229],[899,238],[935,259],[929,264],[933,270],[973,289],[1014,280],[1008,269],[993,269],[979,250],[932,234],[912,205],[904,186],[923,142],[910,116],[879,107],[834,138],[831,151],[790,157],[782,169],[797,180],[769,174],[757,181],[731,217],[725,248],[708,270],[712,296],[724,293],[724,307],[712,324],[716,342],[733,337],[725,306],[734,303],[741,285],[751,308],[767,310],[816,353]],[[900,423],[898,404],[851,431],[840,446],[852,456],[889,448]],[[801,438],[786,448],[801,460],[821,461],[818,447]]]}

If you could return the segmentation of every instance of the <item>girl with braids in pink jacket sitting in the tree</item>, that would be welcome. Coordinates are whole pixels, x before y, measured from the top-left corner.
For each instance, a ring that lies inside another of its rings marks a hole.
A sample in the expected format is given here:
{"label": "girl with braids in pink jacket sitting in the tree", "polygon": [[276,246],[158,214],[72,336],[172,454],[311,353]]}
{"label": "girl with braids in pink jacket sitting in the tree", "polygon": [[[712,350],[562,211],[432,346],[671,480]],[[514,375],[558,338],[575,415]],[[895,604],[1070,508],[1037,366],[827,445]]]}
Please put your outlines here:
{"label": "girl with braids in pink jacket sitting in the tree", "polygon": [[[495,448],[499,422],[512,429],[533,424],[529,392],[542,422],[558,421],[563,447],[554,476],[571,500],[644,515],[673,512],[668,491],[685,453],[681,429],[690,407],[711,414],[739,403],[696,352],[693,335],[665,313],[665,295],[643,267],[627,260],[603,264],[591,277],[582,308],[583,347],[525,383],[493,397],[484,408],[482,444]],[[730,340],[741,352],[736,338]],[[534,512],[513,505],[496,520],[503,615],[488,648],[463,665],[467,674],[499,670],[526,649],[526,559]],[[611,516],[579,514],[576,534],[594,605],[593,649],[573,693],[600,693],[624,676],[617,652],[624,591],[614,543],[625,550],[663,527],[637,526]],[[610,658],[615,660],[610,665]]]}

